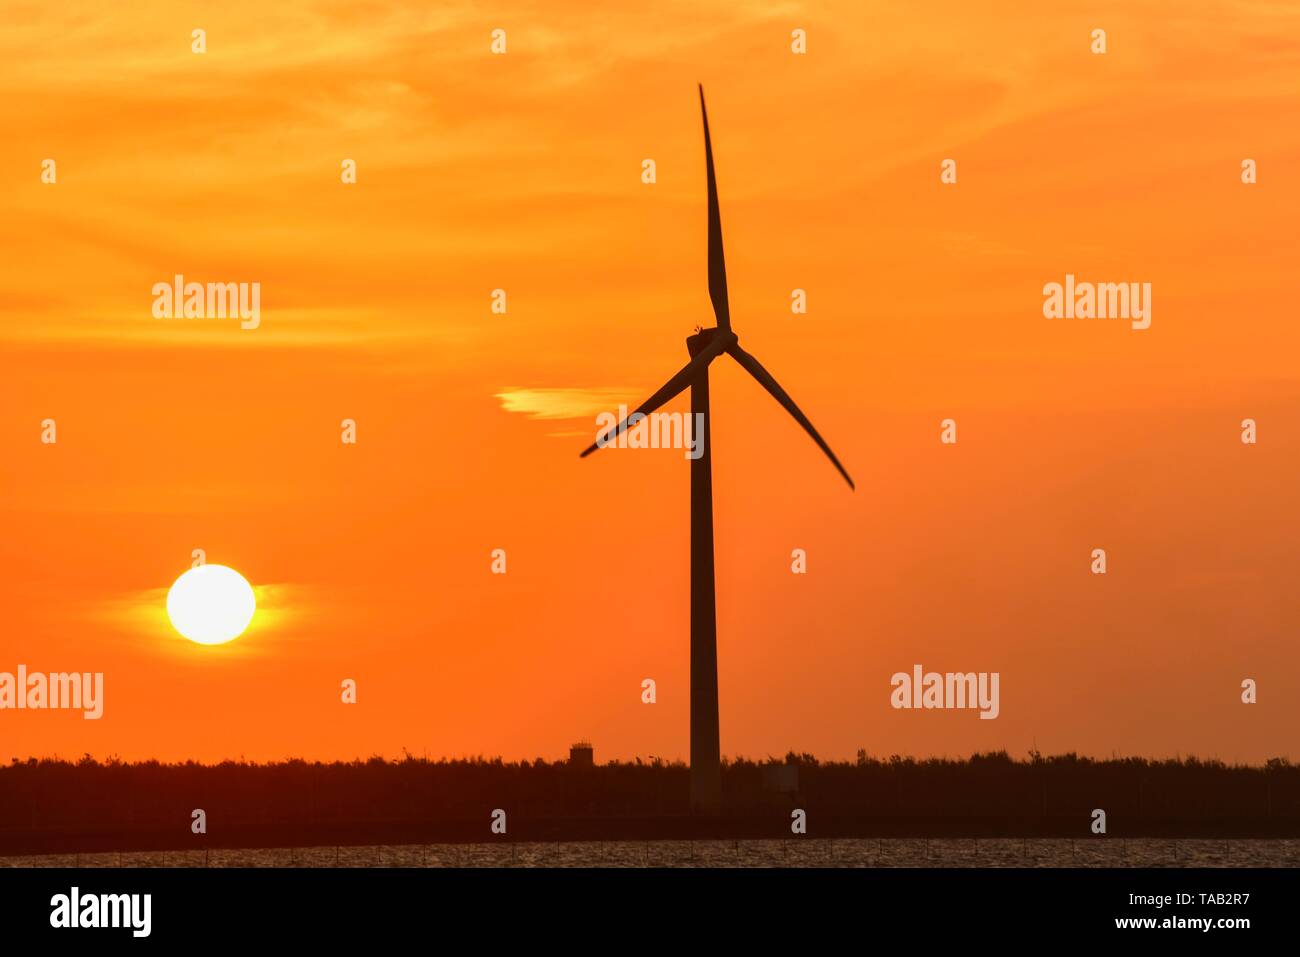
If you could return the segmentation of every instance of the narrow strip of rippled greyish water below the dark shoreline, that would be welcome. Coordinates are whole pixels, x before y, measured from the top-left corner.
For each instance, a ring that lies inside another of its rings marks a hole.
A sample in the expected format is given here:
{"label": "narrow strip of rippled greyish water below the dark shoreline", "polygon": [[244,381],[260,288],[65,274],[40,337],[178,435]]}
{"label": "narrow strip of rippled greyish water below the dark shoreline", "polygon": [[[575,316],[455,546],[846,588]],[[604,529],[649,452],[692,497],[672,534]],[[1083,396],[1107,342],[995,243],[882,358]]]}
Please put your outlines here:
{"label": "narrow strip of rippled greyish water below the dark shoreline", "polygon": [[0,867],[1296,867],[1300,840],[558,841],[0,857]]}

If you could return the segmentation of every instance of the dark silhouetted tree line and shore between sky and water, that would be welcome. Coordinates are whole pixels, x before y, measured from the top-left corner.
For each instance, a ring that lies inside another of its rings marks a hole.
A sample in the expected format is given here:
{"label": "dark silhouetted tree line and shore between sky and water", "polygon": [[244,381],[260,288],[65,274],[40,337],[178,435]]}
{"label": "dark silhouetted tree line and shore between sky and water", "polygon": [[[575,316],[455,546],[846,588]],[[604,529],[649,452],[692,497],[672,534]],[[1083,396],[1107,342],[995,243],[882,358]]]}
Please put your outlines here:
{"label": "dark silhouetted tree line and shore between sky and water", "polygon": [[[797,768],[796,793],[766,787],[776,765]],[[13,759],[0,766],[0,853],[489,840],[498,807],[508,840],[785,836],[792,807],[823,836],[1086,836],[1098,807],[1114,835],[1300,836],[1300,767],[1286,759],[737,758],[724,762],[725,809],[710,819],[690,814],[688,775],[658,759]],[[191,831],[194,809],[205,835]]]}

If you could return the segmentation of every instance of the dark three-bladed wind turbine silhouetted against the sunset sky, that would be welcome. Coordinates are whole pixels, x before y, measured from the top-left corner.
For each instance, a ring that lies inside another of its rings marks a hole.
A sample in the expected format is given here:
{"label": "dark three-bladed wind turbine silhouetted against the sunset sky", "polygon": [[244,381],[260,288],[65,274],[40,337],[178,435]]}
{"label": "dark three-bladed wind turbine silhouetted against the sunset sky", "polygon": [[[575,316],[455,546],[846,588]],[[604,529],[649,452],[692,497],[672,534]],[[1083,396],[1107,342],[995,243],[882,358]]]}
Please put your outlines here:
{"label": "dark three-bladed wind turbine silhouetted against the sunset sky", "polygon": [[[794,421],[803,426],[840,469],[849,488],[854,485],[853,478],[831,451],[831,446],[812,428],[812,423],[794,404],[794,399],[781,389],[758,359],[740,347],[740,341],[732,332],[731,311],[727,306],[727,267],[723,263],[723,224],[718,212],[718,179],[714,176],[714,147],[708,139],[703,85],[699,87],[699,113],[705,120],[705,166],[708,174],[708,298],[714,303],[718,325],[714,329],[697,326],[698,332],[686,339],[690,361],[627,419],[584,450],[582,458],[618,438],[634,416],[649,415],[690,386],[692,421],[703,425],[701,434],[694,437],[702,454],[690,462],[690,804],[703,810],[715,810],[722,804],[722,754],[718,742],[718,625],[714,598],[714,481],[708,434],[708,364],[723,352],[740,363],[786,412],[794,416]],[[633,424],[638,421],[641,419],[634,419]]]}

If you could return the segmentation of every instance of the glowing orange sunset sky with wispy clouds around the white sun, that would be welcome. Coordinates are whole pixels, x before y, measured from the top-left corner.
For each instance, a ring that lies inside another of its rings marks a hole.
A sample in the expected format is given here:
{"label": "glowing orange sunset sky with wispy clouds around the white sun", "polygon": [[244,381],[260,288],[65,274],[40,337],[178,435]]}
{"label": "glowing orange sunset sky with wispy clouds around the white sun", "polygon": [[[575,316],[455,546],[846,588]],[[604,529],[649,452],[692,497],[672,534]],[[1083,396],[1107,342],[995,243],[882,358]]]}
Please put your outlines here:
{"label": "glowing orange sunset sky with wispy clouds around the white sun", "polygon": [[[577,452],[712,324],[697,81],[741,343],[858,482],[714,367],[723,752],[1295,755],[1294,5],[480,9],[0,0],[0,671],[105,674],[0,759],[685,757],[686,462]],[[1067,272],[1150,329],[1044,319]],[[165,622],[195,547],[231,645]]]}

